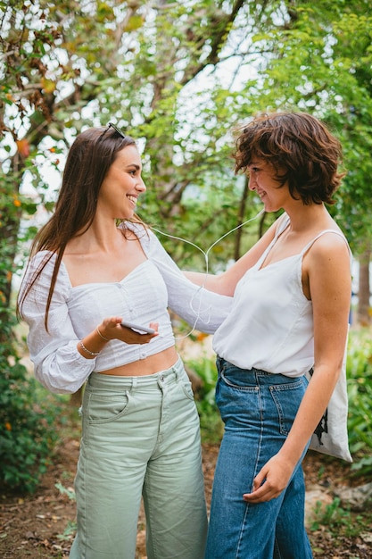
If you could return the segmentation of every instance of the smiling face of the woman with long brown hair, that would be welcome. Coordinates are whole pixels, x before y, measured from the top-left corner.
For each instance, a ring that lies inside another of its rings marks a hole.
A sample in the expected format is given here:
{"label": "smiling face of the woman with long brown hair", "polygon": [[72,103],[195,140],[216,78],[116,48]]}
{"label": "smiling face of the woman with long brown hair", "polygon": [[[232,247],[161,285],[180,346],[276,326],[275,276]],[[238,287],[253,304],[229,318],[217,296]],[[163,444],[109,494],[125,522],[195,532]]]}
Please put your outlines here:
{"label": "smiling face of the woman with long brown hair", "polygon": [[139,194],[145,192],[142,163],[136,146],[118,152],[100,188],[97,211],[112,219],[128,220],[136,211]]}

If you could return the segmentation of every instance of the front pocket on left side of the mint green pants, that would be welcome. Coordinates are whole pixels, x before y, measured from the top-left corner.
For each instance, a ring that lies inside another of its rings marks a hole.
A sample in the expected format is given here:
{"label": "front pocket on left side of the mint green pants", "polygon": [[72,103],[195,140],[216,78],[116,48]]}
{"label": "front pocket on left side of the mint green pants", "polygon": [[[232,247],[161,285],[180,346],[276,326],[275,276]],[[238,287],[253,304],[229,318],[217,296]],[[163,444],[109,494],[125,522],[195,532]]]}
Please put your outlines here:
{"label": "front pocket on left side of the mint green pants", "polygon": [[128,394],[101,396],[90,394],[87,401],[87,420],[91,425],[117,421],[128,413]]}

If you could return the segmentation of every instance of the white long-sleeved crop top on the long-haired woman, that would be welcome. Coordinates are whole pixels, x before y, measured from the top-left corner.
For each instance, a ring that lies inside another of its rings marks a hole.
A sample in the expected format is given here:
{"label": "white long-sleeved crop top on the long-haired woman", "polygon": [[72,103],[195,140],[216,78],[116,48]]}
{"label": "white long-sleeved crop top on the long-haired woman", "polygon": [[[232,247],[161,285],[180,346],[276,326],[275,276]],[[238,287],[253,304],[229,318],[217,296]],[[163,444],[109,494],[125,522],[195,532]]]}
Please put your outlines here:
{"label": "white long-sleeved crop top on the long-haired woman", "polygon": [[[92,371],[106,371],[174,346],[168,307],[207,333],[213,333],[231,309],[232,297],[211,293],[186,280],[152,231],[134,224],[126,226],[136,231],[147,260],[123,280],[73,288],[61,263],[47,332],[45,306],[54,270],[53,256],[21,307],[22,317],[29,324],[29,355],[35,375],[52,392],[76,392]],[[36,254],[23,285],[48,255],[46,251]],[[113,315],[144,325],[159,322],[159,336],[144,345],[112,340],[95,359],[80,355],[78,340],[95,330],[103,318]]]}

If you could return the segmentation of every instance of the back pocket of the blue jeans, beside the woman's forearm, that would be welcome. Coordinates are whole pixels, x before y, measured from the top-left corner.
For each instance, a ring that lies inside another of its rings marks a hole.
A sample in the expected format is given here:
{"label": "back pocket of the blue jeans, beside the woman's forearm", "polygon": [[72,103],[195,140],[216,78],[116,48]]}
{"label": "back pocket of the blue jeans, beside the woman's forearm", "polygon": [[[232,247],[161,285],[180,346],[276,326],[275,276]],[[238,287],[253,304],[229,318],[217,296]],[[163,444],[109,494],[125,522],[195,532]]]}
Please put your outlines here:
{"label": "back pocket of the blue jeans, beside the woman's forearm", "polygon": [[277,407],[279,431],[288,435],[303,397],[302,380],[292,384],[270,386],[270,393]]}

